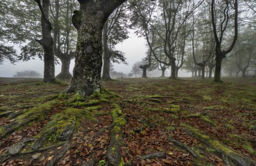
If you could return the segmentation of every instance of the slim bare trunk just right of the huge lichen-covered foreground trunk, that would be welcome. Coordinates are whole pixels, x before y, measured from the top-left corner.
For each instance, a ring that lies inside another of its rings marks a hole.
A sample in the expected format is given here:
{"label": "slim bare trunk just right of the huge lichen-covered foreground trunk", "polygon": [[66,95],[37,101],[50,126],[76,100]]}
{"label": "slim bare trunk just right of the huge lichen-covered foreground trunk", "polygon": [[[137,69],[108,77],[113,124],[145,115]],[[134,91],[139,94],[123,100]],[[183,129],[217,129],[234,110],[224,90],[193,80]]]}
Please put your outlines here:
{"label": "slim bare trunk just right of the huge lichen-covered foreground trunk", "polygon": [[111,52],[109,51],[107,43],[107,25],[108,21],[105,22],[103,28],[103,73],[101,79],[110,80],[110,57]]}

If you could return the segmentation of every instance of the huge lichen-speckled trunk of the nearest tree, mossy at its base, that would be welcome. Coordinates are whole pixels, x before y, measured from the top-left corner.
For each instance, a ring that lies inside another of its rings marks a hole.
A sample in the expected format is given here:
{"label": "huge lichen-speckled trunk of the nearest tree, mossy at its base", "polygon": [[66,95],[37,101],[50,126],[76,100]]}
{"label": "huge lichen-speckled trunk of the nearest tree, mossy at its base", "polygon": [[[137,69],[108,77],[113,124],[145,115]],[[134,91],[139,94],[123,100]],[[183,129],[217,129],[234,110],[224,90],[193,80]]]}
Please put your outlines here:
{"label": "huge lichen-speckled trunk of the nearest tree, mossy at its base", "polygon": [[73,25],[78,29],[78,40],[73,78],[67,92],[77,92],[79,95],[88,96],[95,91],[101,92],[102,90],[100,73],[105,16],[102,11],[94,9],[94,5],[90,6],[87,3],[82,3],[80,9],[72,19]]}

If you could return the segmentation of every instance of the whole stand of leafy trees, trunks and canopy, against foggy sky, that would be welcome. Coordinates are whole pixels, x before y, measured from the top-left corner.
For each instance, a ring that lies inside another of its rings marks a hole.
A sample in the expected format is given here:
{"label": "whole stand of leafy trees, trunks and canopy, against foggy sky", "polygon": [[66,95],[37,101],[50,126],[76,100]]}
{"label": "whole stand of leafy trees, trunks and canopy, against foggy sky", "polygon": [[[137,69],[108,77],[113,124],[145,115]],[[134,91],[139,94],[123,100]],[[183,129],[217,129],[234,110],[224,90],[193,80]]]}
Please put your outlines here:
{"label": "whole stand of leafy trees, trunks and canopy, against foggy sky", "polygon": [[[71,78],[66,92],[90,95],[101,91],[101,79],[111,79],[110,62],[125,63],[115,49],[128,29],[145,38],[148,51],[138,64],[147,70],[180,69],[220,82],[221,71],[255,71],[255,4],[251,0],[2,0],[0,2],[0,62],[44,60],[44,82]],[[10,43],[19,44],[17,55]],[[102,58],[103,55],[103,58]],[[101,68],[103,65],[103,74]]]}

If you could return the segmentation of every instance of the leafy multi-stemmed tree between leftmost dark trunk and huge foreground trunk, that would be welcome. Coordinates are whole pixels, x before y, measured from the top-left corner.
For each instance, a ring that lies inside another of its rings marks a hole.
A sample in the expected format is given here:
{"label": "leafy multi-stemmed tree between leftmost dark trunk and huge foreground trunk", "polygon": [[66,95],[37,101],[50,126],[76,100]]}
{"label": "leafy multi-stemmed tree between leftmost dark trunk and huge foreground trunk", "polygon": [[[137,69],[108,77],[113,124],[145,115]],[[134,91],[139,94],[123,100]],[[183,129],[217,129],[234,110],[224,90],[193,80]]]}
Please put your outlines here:
{"label": "leafy multi-stemmed tree between leftmost dark trunk and huge foreground trunk", "polygon": [[[61,72],[56,76],[58,79],[70,79],[72,75],[69,72],[70,61],[75,58],[76,36],[75,27],[72,25],[73,9],[78,6],[75,0],[55,0],[55,4],[50,8],[53,18],[53,51],[62,62]],[[60,6],[62,7],[60,10]]]}

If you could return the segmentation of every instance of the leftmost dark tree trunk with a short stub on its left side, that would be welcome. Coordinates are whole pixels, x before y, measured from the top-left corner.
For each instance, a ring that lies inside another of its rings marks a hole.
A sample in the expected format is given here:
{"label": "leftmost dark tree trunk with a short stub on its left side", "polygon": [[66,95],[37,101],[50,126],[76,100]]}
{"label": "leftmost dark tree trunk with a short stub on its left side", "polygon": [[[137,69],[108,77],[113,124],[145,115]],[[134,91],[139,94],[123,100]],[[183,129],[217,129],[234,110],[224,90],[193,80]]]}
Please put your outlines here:
{"label": "leftmost dark tree trunk with a short stub on its left side", "polygon": [[50,0],[36,1],[41,9],[42,39],[36,40],[44,49],[44,79],[43,82],[55,82],[55,66],[53,54],[52,25],[49,22]]}

